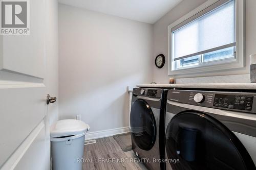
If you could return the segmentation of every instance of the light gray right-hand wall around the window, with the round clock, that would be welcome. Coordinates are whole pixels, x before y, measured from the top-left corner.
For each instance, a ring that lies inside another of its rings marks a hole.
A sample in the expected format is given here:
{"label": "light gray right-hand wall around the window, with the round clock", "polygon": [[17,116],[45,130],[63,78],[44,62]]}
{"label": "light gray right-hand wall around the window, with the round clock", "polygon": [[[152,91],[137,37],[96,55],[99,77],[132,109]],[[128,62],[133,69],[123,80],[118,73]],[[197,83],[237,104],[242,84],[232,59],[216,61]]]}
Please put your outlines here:
{"label": "light gray right-hand wall around the window, with the round clock", "polygon": [[[163,53],[167,59],[167,26],[176,21],[183,15],[203,4],[205,0],[183,0],[175,8],[169,11],[165,16],[154,24],[154,58]],[[176,83],[231,83],[231,82],[249,82],[249,55],[256,53],[256,1],[246,0],[246,68],[231,70],[226,72],[216,72],[217,76],[189,75],[189,78],[177,78]],[[227,75],[227,76],[223,76]],[[235,75],[235,76],[230,76]],[[163,68],[154,67],[153,80],[156,83],[168,83],[167,63]],[[191,78],[192,77],[192,78]],[[197,77],[197,78],[193,78]]]}

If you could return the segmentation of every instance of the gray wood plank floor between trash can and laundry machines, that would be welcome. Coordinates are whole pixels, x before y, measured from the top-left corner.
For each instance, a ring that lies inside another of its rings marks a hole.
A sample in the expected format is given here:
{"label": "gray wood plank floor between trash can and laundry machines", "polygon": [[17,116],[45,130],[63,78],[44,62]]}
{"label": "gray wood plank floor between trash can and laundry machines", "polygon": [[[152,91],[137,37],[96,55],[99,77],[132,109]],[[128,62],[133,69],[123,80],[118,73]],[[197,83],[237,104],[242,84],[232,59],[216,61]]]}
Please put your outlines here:
{"label": "gray wood plank floor between trash can and laundry machines", "polygon": [[85,162],[83,163],[83,169],[147,170],[142,163],[133,161],[136,160],[136,158],[133,151],[123,152],[113,137],[100,138],[96,139],[96,143],[84,146]]}

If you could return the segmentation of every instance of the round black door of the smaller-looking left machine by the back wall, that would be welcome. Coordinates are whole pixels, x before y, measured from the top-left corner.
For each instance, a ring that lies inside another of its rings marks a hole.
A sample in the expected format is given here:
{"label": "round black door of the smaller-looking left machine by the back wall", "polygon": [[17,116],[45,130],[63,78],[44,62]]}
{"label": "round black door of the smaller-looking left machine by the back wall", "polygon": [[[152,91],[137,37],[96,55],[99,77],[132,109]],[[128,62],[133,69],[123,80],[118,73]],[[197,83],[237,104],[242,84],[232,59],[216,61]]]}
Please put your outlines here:
{"label": "round black door of the smaller-looking left machine by the back wall", "polygon": [[151,150],[156,141],[156,120],[151,107],[144,100],[137,100],[131,108],[131,134],[133,142],[142,150]]}

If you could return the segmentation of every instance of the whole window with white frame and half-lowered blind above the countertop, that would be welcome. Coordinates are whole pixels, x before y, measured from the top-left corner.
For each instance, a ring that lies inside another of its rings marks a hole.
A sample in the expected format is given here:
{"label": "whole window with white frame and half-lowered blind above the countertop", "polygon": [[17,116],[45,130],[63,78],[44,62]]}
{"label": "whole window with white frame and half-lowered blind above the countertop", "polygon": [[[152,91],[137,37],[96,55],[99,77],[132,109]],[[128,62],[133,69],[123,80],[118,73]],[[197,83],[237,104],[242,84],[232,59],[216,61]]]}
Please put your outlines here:
{"label": "whole window with white frame and half-lowered blind above the countertop", "polygon": [[243,22],[237,27],[237,0],[209,2],[168,27],[169,75],[244,66]]}

